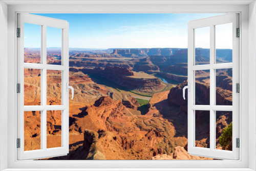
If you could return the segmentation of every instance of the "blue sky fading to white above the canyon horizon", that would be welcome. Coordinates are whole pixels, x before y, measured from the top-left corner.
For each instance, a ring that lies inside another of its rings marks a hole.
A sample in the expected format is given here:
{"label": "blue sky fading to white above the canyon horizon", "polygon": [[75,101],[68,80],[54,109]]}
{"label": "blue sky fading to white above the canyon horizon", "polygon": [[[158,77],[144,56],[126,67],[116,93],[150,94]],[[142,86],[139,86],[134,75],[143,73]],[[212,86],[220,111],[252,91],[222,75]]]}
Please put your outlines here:
{"label": "blue sky fading to white above the canyon horizon", "polygon": [[[36,14],[69,22],[70,48],[187,48],[190,20],[220,14]],[[228,25],[228,24],[227,24]],[[232,48],[230,27],[218,29],[216,44]],[[216,30],[217,31],[217,30]],[[25,24],[25,48],[40,47],[40,26]],[[207,28],[196,30],[196,47],[209,48]],[[61,30],[47,27],[47,47],[61,47]]]}

